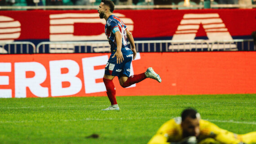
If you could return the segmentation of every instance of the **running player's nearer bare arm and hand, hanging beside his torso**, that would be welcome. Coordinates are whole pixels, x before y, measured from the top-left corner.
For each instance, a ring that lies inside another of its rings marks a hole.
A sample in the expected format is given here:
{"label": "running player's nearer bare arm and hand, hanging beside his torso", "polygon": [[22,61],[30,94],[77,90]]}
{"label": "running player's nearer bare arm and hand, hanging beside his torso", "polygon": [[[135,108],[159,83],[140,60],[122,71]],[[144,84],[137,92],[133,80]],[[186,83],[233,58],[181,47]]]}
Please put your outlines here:
{"label": "running player's nearer bare arm and hand, hanging beside his torso", "polygon": [[121,52],[121,48],[122,48],[122,35],[120,33],[120,31],[116,31],[115,32],[115,40],[116,40],[116,52],[115,55],[113,56],[116,57],[116,63],[120,64],[124,61],[124,57],[123,54]]}

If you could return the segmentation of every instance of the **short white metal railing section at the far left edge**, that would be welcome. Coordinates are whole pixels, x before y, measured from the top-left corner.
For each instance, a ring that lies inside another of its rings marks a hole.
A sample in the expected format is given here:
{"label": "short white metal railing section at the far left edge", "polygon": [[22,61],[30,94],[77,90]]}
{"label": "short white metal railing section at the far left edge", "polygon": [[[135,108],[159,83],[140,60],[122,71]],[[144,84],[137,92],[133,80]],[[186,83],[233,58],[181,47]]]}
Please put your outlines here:
{"label": "short white metal railing section at the far left edge", "polygon": [[[32,48],[32,50],[31,50]],[[18,52],[19,49],[19,52]],[[13,52],[11,52],[13,50]],[[23,50],[25,52],[23,52]],[[35,44],[31,42],[0,42],[0,53],[35,53]]]}

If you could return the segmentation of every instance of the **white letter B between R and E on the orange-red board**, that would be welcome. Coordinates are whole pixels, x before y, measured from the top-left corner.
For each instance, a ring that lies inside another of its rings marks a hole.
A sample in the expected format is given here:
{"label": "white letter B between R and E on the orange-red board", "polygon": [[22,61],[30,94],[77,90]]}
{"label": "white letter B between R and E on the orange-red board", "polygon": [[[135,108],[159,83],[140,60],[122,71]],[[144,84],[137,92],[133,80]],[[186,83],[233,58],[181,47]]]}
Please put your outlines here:
{"label": "white letter B between R and E on the orange-red board", "polygon": [[[67,68],[66,74],[61,73],[62,68]],[[50,61],[50,78],[52,96],[69,96],[80,92],[81,80],[76,77],[79,65],[72,60]],[[62,82],[69,82],[70,87],[62,87]]]}

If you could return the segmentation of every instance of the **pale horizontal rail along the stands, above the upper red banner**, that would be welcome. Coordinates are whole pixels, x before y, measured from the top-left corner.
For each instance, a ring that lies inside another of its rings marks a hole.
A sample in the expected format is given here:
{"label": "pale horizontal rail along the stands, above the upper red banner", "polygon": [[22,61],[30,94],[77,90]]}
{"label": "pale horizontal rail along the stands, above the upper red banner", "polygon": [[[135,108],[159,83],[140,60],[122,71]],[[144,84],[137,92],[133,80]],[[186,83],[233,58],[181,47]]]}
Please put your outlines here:
{"label": "pale horizontal rail along the stands, above the upper red banner", "polygon": [[[256,4],[211,4],[211,8],[256,8]],[[115,9],[203,9],[203,4],[197,5],[115,5]],[[58,6],[0,6],[3,9],[98,9],[98,5],[58,5]]]}

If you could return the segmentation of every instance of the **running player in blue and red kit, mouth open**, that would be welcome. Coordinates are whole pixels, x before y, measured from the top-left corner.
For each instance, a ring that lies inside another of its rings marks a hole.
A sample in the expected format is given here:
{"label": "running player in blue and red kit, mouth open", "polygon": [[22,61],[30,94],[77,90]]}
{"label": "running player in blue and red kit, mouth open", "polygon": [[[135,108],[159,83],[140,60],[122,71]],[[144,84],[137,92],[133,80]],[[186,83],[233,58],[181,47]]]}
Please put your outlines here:
{"label": "running player in blue and red kit, mouth open", "polygon": [[[130,75],[132,59],[136,57],[136,49],[131,32],[127,29],[124,22],[113,15],[115,5],[111,0],[102,0],[98,8],[100,18],[106,20],[105,34],[110,44],[111,55],[105,67],[103,82],[106,86],[106,93],[111,105],[102,110],[119,110],[115,98],[115,86],[113,79],[118,76],[119,83],[122,87],[129,87],[134,83],[139,83],[146,78],[157,80],[161,83],[161,78],[154,72],[152,67],[148,68],[145,73]],[[127,39],[131,44],[128,48]]]}

